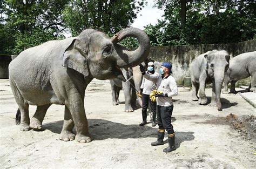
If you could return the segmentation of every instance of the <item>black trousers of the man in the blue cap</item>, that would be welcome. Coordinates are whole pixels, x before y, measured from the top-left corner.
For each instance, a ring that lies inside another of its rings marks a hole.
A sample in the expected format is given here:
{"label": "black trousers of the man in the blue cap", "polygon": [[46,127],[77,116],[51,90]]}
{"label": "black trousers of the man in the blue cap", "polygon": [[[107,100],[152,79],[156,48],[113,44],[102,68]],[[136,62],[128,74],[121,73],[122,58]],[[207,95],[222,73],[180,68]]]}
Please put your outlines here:
{"label": "black trousers of the man in the blue cap", "polygon": [[172,106],[159,106],[157,105],[157,119],[158,129],[166,130],[168,134],[173,134],[173,126],[171,123],[173,105]]}

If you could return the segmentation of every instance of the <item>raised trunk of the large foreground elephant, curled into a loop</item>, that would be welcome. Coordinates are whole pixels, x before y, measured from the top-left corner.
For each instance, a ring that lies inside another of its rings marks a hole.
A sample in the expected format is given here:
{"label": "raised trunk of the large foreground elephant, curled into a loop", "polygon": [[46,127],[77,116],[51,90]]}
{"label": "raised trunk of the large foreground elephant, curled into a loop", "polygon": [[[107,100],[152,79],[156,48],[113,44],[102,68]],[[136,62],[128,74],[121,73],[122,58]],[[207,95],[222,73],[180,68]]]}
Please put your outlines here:
{"label": "raised trunk of the large foreground elephant, curled into a loop", "polygon": [[[126,37],[134,37],[139,41],[136,50],[128,50],[117,44]],[[138,28],[127,28],[112,37],[112,43],[116,51],[117,65],[119,67],[133,67],[142,63],[150,52],[150,39],[146,33]]]}

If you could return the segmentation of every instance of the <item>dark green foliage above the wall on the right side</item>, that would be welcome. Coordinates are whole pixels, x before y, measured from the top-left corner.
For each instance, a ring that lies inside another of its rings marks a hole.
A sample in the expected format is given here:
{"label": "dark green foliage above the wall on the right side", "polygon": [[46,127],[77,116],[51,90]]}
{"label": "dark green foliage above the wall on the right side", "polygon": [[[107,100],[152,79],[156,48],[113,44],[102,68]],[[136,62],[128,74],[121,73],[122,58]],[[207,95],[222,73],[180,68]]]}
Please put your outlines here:
{"label": "dark green foliage above the wall on the right side", "polygon": [[188,1],[186,25],[181,26],[180,1],[156,2],[164,21],[145,26],[151,45],[234,43],[255,38],[256,3]]}

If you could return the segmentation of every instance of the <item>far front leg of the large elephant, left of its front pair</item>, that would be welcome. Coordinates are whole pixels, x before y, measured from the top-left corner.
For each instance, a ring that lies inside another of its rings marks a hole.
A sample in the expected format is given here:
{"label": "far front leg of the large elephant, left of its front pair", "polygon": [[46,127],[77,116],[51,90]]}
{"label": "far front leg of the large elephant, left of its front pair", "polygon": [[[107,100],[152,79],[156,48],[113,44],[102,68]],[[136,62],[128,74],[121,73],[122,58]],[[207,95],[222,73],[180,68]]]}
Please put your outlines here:
{"label": "far front leg of the large elephant, left of its front pair", "polygon": [[75,134],[73,133],[73,127],[75,126],[71,113],[68,107],[65,106],[64,122],[62,132],[60,133],[60,140],[72,141],[75,140]]}

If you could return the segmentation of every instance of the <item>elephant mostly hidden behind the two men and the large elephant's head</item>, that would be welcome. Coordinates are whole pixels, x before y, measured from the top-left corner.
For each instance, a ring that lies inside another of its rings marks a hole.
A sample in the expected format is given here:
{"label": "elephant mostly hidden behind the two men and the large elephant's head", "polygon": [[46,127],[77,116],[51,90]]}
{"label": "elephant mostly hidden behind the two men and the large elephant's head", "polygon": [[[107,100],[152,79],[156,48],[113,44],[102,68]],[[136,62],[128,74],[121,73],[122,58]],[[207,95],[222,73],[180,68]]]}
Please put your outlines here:
{"label": "elephant mostly hidden behind the two men and the large elephant's head", "polygon": [[[125,97],[125,112],[133,112],[136,109],[136,99],[138,98],[138,103],[142,106],[142,99],[137,97],[136,92],[140,91],[140,85],[142,84],[142,73],[139,70],[139,66],[130,67],[128,71],[121,69],[126,80],[132,77],[129,82],[122,82],[119,78],[113,78],[110,80],[110,85],[112,89],[112,105],[118,105],[119,102],[119,92],[123,88]],[[134,89],[134,87],[136,89]],[[136,91],[137,90],[137,91]]]}

